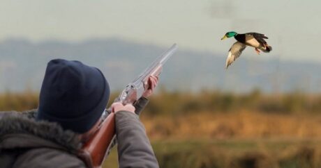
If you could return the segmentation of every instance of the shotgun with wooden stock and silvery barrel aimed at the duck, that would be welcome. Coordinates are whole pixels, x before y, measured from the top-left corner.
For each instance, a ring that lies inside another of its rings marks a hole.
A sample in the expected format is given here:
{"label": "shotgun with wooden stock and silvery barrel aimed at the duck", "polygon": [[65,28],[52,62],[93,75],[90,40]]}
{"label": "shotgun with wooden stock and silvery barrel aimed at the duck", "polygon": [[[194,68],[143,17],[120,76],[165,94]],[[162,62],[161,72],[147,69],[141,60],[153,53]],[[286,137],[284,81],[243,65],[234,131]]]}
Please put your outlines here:
{"label": "shotgun with wooden stock and silvery barrel aimed at the duck", "polygon": [[[133,104],[140,99],[144,91],[149,88],[149,76],[159,76],[163,65],[176,50],[177,44],[173,44],[170,49],[158,56],[140,76],[125,87],[114,102],[120,101],[126,105],[128,103]],[[78,156],[86,162],[88,167],[100,168],[110,149],[116,143],[114,118],[114,112],[105,110],[98,131],[82,146],[80,153],[78,153]]]}

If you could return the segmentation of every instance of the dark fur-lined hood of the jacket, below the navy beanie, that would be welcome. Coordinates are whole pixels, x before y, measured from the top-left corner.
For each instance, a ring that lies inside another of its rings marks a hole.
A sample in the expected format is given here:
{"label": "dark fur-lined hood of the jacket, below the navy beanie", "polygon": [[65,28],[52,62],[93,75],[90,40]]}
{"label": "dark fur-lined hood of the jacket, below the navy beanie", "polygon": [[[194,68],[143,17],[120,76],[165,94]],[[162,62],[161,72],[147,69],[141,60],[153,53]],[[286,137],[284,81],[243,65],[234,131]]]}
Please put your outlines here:
{"label": "dark fur-lined hood of the jacket, below the navy beanie", "polygon": [[70,153],[80,149],[76,133],[53,122],[35,121],[36,112],[0,112],[0,149],[47,146]]}

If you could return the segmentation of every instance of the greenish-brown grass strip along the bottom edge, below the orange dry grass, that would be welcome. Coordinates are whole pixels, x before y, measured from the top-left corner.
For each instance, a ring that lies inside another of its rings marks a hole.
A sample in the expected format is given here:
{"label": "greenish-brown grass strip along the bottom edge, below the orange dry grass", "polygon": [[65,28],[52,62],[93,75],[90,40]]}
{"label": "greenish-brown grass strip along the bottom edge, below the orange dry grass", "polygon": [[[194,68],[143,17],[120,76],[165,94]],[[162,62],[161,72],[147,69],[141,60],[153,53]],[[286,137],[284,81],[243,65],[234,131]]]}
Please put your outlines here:
{"label": "greenish-brown grass strip along the bottom edge, below the orange dry grass", "polygon": [[[152,144],[160,167],[321,167],[320,140],[162,140]],[[118,167],[116,149],[108,157],[104,167]]]}

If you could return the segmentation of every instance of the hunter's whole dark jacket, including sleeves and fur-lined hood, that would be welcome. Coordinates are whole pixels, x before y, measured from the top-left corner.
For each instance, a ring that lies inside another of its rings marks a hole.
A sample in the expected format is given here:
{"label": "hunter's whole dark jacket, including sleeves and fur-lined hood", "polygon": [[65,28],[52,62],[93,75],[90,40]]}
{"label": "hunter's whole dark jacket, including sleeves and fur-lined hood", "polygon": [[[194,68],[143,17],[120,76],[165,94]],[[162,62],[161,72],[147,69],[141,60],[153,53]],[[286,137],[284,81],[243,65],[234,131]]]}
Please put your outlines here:
{"label": "hunter's whole dark jacket, including sleeves and fur-lined hood", "polygon": [[[147,103],[143,102],[140,105]],[[141,106],[141,108],[144,106]],[[141,110],[137,107],[137,110]],[[0,113],[1,168],[87,167],[77,157],[81,142],[76,133],[59,124],[35,121],[36,110]],[[138,116],[117,112],[119,167],[158,167],[156,157]]]}

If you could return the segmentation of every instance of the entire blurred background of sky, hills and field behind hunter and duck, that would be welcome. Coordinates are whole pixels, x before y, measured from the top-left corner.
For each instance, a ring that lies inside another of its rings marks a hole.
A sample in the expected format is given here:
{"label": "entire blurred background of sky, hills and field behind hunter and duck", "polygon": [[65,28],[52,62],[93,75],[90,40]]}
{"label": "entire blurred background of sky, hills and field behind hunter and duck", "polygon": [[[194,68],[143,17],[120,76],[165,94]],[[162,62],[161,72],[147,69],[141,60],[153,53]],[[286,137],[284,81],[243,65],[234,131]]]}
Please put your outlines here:
{"label": "entire blurred background of sky, hills and field behind hunter and duck", "polygon": [[[37,108],[54,58],[98,67],[116,97],[177,43],[141,116],[160,167],[321,167],[320,1],[0,2],[0,110]],[[273,51],[225,69],[227,31]]]}

